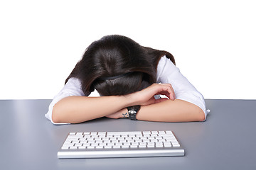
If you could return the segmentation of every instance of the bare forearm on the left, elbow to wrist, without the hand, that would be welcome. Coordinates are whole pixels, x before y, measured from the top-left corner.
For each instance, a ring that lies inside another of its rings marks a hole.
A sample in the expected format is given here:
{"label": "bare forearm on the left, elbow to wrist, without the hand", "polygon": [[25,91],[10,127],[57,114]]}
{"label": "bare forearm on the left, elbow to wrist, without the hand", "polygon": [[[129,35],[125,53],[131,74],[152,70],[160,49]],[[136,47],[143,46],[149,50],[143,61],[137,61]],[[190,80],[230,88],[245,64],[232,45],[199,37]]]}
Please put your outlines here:
{"label": "bare forearm on the left, elbow to wrist, without the hand", "polygon": [[82,123],[110,115],[132,104],[127,96],[70,96],[55,104],[52,119],[54,123]]}

